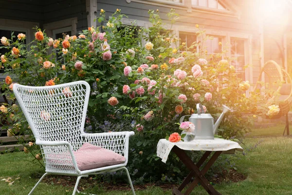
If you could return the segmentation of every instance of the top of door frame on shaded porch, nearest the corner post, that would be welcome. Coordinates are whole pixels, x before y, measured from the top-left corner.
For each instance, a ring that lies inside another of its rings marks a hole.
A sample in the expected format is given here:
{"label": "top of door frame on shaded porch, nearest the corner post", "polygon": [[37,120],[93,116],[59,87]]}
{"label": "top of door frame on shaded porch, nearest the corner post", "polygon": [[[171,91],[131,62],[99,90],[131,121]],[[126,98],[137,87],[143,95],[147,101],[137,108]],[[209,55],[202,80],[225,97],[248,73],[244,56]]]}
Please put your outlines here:
{"label": "top of door frame on shaded porch, nearest the corner post", "polygon": [[45,32],[47,33],[48,37],[53,36],[53,30],[62,29],[65,27],[71,27],[71,35],[76,35],[77,17],[65,20],[58,20],[43,25],[43,28],[46,29]]}

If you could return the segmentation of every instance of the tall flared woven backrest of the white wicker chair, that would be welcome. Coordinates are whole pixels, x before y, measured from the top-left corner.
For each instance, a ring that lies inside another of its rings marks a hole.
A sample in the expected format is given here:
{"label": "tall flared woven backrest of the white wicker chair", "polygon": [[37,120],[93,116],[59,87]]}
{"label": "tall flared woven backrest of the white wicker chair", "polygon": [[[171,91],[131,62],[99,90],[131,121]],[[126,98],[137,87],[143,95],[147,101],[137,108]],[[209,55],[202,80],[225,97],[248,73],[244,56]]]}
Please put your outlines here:
{"label": "tall flared woven backrest of the white wicker chair", "polygon": [[32,87],[14,84],[13,91],[37,140],[68,141],[81,147],[90,85],[85,81]]}

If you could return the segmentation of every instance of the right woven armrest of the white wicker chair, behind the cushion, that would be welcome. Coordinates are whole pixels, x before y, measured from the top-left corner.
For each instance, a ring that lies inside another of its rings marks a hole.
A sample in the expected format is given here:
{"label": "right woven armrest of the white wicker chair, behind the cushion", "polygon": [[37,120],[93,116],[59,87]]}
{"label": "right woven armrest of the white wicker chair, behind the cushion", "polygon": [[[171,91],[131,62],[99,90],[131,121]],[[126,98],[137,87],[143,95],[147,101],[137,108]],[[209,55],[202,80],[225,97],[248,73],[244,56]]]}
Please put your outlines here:
{"label": "right woven armrest of the white wicker chair, behind the cushion", "polygon": [[123,131],[95,134],[83,133],[81,136],[84,137],[84,142],[106,148],[122,156],[125,156],[128,161],[129,137],[133,136],[134,134],[135,133],[132,131]]}

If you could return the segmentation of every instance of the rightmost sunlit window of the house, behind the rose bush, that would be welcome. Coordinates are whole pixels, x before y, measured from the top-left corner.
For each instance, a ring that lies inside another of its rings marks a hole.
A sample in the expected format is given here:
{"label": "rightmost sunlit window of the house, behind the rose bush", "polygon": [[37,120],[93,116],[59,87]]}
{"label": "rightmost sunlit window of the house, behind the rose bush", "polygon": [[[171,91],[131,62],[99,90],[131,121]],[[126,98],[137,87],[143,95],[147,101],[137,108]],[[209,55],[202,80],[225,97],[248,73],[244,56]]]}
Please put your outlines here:
{"label": "rightmost sunlit window of the house, behind the rose bush", "polygon": [[231,58],[235,58],[231,61],[237,70],[237,77],[245,80],[245,52],[244,52],[244,40],[243,39],[230,39],[231,43]]}

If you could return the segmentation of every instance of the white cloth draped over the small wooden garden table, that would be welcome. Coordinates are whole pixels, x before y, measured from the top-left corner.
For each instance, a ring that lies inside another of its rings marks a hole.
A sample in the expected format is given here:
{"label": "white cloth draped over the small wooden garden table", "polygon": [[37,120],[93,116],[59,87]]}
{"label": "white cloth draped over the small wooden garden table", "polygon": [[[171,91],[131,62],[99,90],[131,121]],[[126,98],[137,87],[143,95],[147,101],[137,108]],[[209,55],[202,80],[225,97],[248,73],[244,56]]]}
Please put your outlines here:
{"label": "white cloth draped over the small wooden garden table", "polygon": [[162,161],[165,163],[174,146],[182,150],[192,151],[227,151],[232,149],[243,151],[237,142],[220,138],[208,140],[198,139],[190,142],[170,142],[166,139],[160,139],[157,144],[157,156],[162,158]]}

